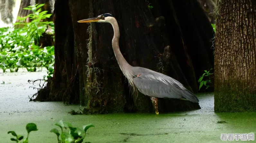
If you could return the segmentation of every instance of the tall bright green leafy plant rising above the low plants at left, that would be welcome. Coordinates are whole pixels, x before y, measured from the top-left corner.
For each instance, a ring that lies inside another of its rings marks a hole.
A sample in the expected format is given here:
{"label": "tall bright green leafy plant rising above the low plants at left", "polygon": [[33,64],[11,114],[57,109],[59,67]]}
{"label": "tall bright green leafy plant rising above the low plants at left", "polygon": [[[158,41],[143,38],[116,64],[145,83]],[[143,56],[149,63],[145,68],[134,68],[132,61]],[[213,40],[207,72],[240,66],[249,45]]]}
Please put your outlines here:
{"label": "tall bright green leafy plant rising above the low plants at left", "polygon": [[[43,21],[46,18],[50,18],[52,14],[47,14],[47,11],[42,11],[41,7],[44,4],[36,4],[31,5],[26,8],[23,8],[25,10],[31,10],[32,13],[25,16],[25,17],[17,17],[20,22],[14,23],[14,25],[22,24],[23,27],[23,33],[25,34],[25,38],[27,39],[33,39],[35,41],[35,44],[38,45],[38,41],[42,34],[46,31],[48,25],[53,26],[53,22],[50,21]],[[31,22],[25,22],[27,18],[32,19]]]}

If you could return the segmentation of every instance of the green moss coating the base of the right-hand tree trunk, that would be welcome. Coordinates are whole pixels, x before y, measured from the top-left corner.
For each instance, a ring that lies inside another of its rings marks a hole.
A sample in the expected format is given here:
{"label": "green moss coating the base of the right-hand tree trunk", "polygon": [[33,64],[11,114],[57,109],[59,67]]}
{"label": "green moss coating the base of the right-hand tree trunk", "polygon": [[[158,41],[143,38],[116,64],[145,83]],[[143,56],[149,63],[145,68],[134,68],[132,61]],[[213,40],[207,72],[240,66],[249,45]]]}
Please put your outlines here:
{"label": "green moss coating the base of the right-hand tree trunk", "polygon": [[215,89],[215,112],[255,112],[256,92],[241,86],[244,83],[247,81],[230,80],[229,83],[218,83],[221,86]]}

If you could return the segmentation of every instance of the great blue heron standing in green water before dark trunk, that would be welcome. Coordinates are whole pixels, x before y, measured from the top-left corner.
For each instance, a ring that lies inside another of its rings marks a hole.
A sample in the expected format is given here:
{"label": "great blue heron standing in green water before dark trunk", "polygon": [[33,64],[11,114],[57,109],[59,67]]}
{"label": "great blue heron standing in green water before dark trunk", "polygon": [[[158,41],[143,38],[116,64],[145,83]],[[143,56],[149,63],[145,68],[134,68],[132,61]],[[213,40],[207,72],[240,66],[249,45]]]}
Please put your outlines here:
{"label": "great blue heron standing in green water before dark trunk", "polygon": [[156,114],[159,114],[157,105],[158,98],[178,98],[194,103],[199,102],[198,98],[177,80],[147,68],[133,67],[127,63],[119,49],[119,27],[113,15],[105,13],[78,22],[107,22],[113,26],[114,37],[112,47],[116,60],[124,76],[128,79],[129,84],[133,87],[133,90],[137,87],[142,94],[150,96]]}

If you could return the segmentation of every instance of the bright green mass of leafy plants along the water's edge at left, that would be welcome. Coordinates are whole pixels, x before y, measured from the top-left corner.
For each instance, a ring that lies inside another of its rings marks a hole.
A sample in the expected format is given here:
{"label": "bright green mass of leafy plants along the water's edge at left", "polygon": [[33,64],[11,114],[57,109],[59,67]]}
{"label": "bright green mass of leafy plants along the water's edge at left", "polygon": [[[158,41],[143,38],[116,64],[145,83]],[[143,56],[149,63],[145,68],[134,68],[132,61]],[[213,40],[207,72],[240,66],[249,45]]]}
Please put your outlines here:
{"label": "bright green mass of leafy plants along the water's edge at left", "polygon": [[[37,71],[36,67],[46,67],[50,78],[53,74],[54,46],[41,47],[39,40],[42,34],[51,27],[54,32],[53,22],[43,22],[51,14],[41,11],[44,4],[36,4],[24,8],[32,10],[33,13],[26,17],[18,17],[20,22],[14,25],[22,28],[4,27],[0,28],[0,68],[3,72],[9,69],[10,72],[17,72],[20,67],[26,68],[29,72]],[[32,21],[27,23],[25,20],[30,18]]]}

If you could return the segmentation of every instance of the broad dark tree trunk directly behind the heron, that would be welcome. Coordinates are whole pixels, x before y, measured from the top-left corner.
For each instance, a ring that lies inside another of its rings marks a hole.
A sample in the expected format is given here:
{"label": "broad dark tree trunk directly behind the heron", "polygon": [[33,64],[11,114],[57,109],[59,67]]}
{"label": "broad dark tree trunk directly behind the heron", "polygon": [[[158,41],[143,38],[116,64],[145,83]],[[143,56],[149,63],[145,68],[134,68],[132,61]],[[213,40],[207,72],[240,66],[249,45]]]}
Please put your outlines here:
{"label": "broad dark tree trunk directly behind the heron", "polygon": [[[214,32],[210,22],[197,0],[185,6],[171,0],[150,3],[153,9],[145,1],[56,0],[55,66],[48,99],[80,103],[86,106],[87,113],[154,111],[148,96],[130,91],[112,49],[111,24],[77,22],[103,13],[117,19],[120,50],[130,65],[171,76],[197,93],[197,79],[204,69],[213,67],[210,39]],[[191,14],[181,13],[183,10]],[[194,17],[182,19],[191,15]],[[198,26],[187,32],[184,22]],[[193,40],[197,39],[194,42],[189,40],[193,36]],[[159,100],[160,112],[199,108],[198,103],[189,101]]]}

